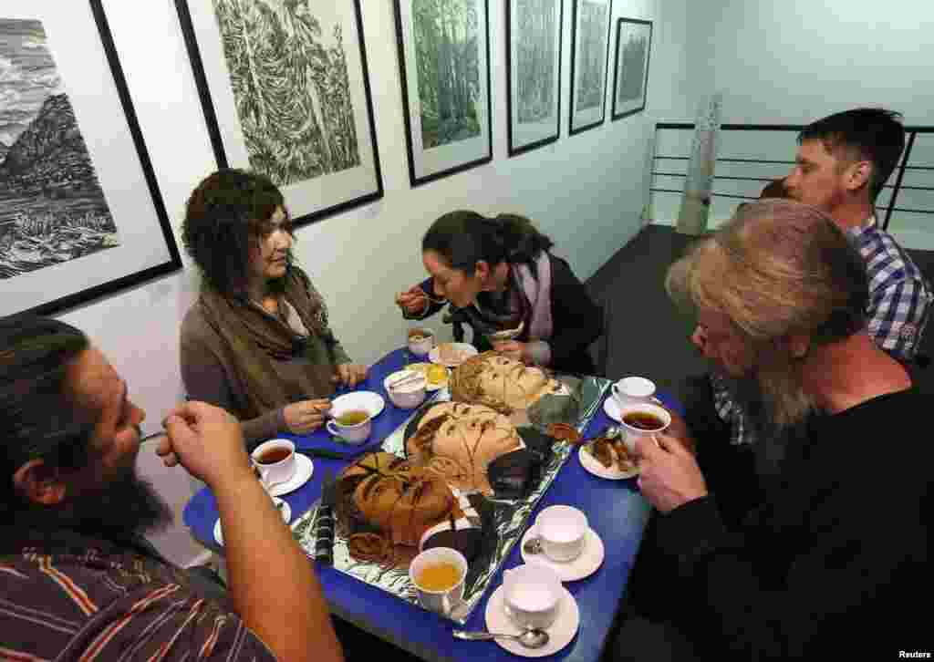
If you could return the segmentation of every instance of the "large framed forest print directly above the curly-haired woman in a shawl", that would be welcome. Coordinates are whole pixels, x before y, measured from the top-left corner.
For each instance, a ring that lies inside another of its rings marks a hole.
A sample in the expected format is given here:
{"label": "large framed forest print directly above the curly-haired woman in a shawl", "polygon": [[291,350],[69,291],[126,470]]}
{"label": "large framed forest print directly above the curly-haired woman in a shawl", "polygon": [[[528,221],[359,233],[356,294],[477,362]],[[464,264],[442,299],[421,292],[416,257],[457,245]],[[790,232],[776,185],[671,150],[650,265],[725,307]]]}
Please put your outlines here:
{"label": "large framed forest print directly above the curly-haired woman in a shawl", "polygon": [[360,0],[176,0],[219,167],[304,225],[383,196]]}

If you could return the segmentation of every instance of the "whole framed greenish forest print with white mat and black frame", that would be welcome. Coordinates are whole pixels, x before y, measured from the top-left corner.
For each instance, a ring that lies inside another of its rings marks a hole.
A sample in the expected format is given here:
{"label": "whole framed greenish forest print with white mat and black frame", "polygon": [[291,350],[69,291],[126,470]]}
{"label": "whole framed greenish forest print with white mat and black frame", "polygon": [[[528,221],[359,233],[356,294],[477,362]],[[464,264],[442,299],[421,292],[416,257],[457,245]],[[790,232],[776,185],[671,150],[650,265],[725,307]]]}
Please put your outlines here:
{"label": "whole framed greenish forest print with white mat and black frame", "polygon": [[493,158],[488,0],[396,0],[409,179]]}

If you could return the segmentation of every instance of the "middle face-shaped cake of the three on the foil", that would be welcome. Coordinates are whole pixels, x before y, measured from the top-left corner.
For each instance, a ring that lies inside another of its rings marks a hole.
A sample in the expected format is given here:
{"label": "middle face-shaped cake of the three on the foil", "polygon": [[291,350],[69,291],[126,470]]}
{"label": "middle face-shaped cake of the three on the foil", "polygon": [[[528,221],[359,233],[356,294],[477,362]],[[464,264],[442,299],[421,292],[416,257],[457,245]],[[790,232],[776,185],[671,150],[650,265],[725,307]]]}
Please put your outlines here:
{"label": "middle face-shaped cake of the three on the foil", "polygon": [[405,443],[406,454],[415,464],[462,492],[486,496],[493,493],[490,463],[522,448],[525,444],[506,416],[465,402],[432,405]]}

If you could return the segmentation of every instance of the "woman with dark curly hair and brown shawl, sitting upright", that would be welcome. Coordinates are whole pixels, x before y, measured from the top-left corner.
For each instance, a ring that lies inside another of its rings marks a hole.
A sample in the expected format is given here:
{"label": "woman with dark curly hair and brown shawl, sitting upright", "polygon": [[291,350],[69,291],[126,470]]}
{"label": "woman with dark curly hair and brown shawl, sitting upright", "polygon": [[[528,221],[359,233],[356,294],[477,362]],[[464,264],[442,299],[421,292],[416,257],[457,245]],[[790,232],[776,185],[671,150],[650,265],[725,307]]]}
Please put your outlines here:
{"label": "woman with dark curly hair and brown shawl, sitting upright", "polygon": [[181,374],[193,400],[238,416],[247,444],[320,427],[334,384],[355,365],[328,327],[318,290],[292,261],[281,191],[266,176],[220,170],[191,193],[182,241],[204,276],[181,326]]}

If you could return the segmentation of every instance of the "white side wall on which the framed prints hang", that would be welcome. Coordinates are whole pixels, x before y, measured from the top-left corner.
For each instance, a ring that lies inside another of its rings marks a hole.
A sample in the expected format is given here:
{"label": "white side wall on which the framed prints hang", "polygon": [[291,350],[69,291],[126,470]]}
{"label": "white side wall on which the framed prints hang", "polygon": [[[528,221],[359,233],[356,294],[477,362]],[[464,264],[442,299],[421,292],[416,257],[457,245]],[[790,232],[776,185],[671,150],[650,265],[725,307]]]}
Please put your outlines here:
{"label": "white side wall on which the framed prints hang", "polygon": [[[193,1],[193,0],[192,0]],[[565,2],[564,90],[568,107],[572,0]],[[587,278],[638,231],[646,196],[645,153],[653,122],[686,113],[686,0],[617,0],[618,16],[655,21],[646,112],[567,136],[507,159],[503,0],[490,2],[494,160],[467,173],[410,189],[392,3],[363,0],[363,28],[384,176],[383,200],[327,218],[297,232],[296,254],[331,308],[333,328],[354,359],[373,362],[400,345],[406,323],[392,303],[397,291],[424,277],[421,234],[434,218],[457,208],[493,214],[512,210],[534,218],[556,241],[577,275]],[[105,3],[124,73],[163,198],[176,230],[194,185],[215,169],[205,121],[171,0]],[[615,39],[615,34],[614,34]],[[615,42],[614,42],[615,43]],[[611,77],[612,80],[612,77]],[[609,116],[609,109],[607,110]],[[80,118],[78,118],[80,120]],[[132,219],[117,219],[118,224]],[[180,246],[180,241],[179,241]],[[198,277],[186,269],[62,317],[87,331],[128,380],[149,411],[146,431],[158,429],[178,401],[177,332],[197,296]],[[156,477],[151,463],[145,472]],[[187,500],[178,481],[163,480],[177,512]],[[155,541],[177,560],[196,548],[177,531]]]}

